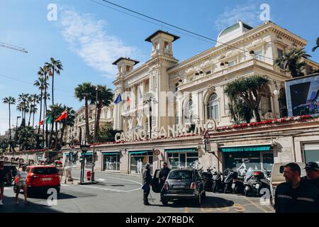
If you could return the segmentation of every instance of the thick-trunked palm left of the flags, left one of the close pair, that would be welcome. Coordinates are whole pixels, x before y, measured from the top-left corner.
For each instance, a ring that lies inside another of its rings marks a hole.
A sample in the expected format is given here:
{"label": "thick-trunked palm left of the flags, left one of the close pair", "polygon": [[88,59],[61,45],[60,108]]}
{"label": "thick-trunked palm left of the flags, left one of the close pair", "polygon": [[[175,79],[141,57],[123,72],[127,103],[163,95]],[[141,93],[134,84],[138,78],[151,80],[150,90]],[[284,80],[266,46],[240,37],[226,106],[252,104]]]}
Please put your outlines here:
{"label": "thick-trunked palm left of the flags, left one of the close pair", "polygon": [[94,92],[95,86],[92,85],[90,82],[79,84],[75,88],[74,92],[75,97],[79,99],[79,101],[85,101],[85,138],[86,141],[89,142],[91,140],[89,131],[89,101],[91,101],[91,104],[94,103],[95,96],[92,95],[94,94]]}

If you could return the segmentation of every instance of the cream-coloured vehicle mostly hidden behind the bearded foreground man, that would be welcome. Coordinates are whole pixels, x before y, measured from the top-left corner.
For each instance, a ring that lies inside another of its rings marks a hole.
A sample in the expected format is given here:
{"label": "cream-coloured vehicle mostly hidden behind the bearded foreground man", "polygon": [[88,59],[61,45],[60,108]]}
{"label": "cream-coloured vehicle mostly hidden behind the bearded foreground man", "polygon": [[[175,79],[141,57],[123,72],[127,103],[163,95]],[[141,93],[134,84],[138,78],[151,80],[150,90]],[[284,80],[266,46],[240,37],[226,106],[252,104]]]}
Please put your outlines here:
{"label": "cream-coloured vehicle mostly hidden behind the bearded foreground man", "polygon": [[[276,192],[276,187],[286,182],[286,179],[284,177],[284,167],[287,165],[288,162],[277,162],[274,163],[272,166],[272,176],[270,177],[270,193],[272,198],[270,199],[270,202],[272,206],[274,206],[274,194]],[[303,162],[297,162],[299,167],[301,167],[301,177],[306,176],[306,170],[304,169],[306,167],[306,164]]]}

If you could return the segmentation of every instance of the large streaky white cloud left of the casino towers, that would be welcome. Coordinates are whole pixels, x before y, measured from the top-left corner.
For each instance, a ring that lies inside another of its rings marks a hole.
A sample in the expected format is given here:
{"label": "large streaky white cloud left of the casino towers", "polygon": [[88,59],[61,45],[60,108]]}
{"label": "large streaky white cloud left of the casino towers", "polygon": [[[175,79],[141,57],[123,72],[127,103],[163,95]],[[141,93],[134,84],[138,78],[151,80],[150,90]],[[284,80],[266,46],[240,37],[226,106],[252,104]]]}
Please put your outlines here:
{"label": "large streaky white cloud left of the casino towers", "polygon": [[96,20],[89,13],[67,9],[61,13],[61,32],[71,50],[103,76],[114,79],[117,69],[112,62],[137,50],[106,33],[106,25],[106,21]]}

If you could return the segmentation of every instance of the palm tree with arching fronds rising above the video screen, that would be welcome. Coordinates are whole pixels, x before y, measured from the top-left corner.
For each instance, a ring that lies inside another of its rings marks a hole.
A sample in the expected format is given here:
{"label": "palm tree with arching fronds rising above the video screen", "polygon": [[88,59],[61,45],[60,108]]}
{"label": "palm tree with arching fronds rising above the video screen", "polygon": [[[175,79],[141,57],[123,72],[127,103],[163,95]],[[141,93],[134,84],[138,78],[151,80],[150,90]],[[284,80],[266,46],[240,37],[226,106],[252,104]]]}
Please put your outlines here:
{"label": "palm tree with arching fronds rising above the video screen", "polygon": [[293,48],[289,52],[285,52],[282,57],[278,57],[274,63],[279,67],[284,65],[284,68],[291,72],[291,77],[302,77],[303,69],[306,67],[306,62],[304,59],[311,57],[308,55],[304,48]]}

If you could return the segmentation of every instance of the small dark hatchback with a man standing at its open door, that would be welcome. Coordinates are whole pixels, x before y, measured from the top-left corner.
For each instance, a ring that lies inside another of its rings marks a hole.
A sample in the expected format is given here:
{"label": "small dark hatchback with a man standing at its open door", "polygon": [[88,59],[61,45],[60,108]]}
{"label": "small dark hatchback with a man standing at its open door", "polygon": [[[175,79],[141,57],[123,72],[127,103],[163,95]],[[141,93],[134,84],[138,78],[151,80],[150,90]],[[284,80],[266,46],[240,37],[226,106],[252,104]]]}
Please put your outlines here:
{"label": "small dark hatchback with a man standing at its open door", "polygon": [[205,185],[198,170],[171,170],[161,191],[162,204],[174,199],[193,199],[201,204],[206,197]]}

